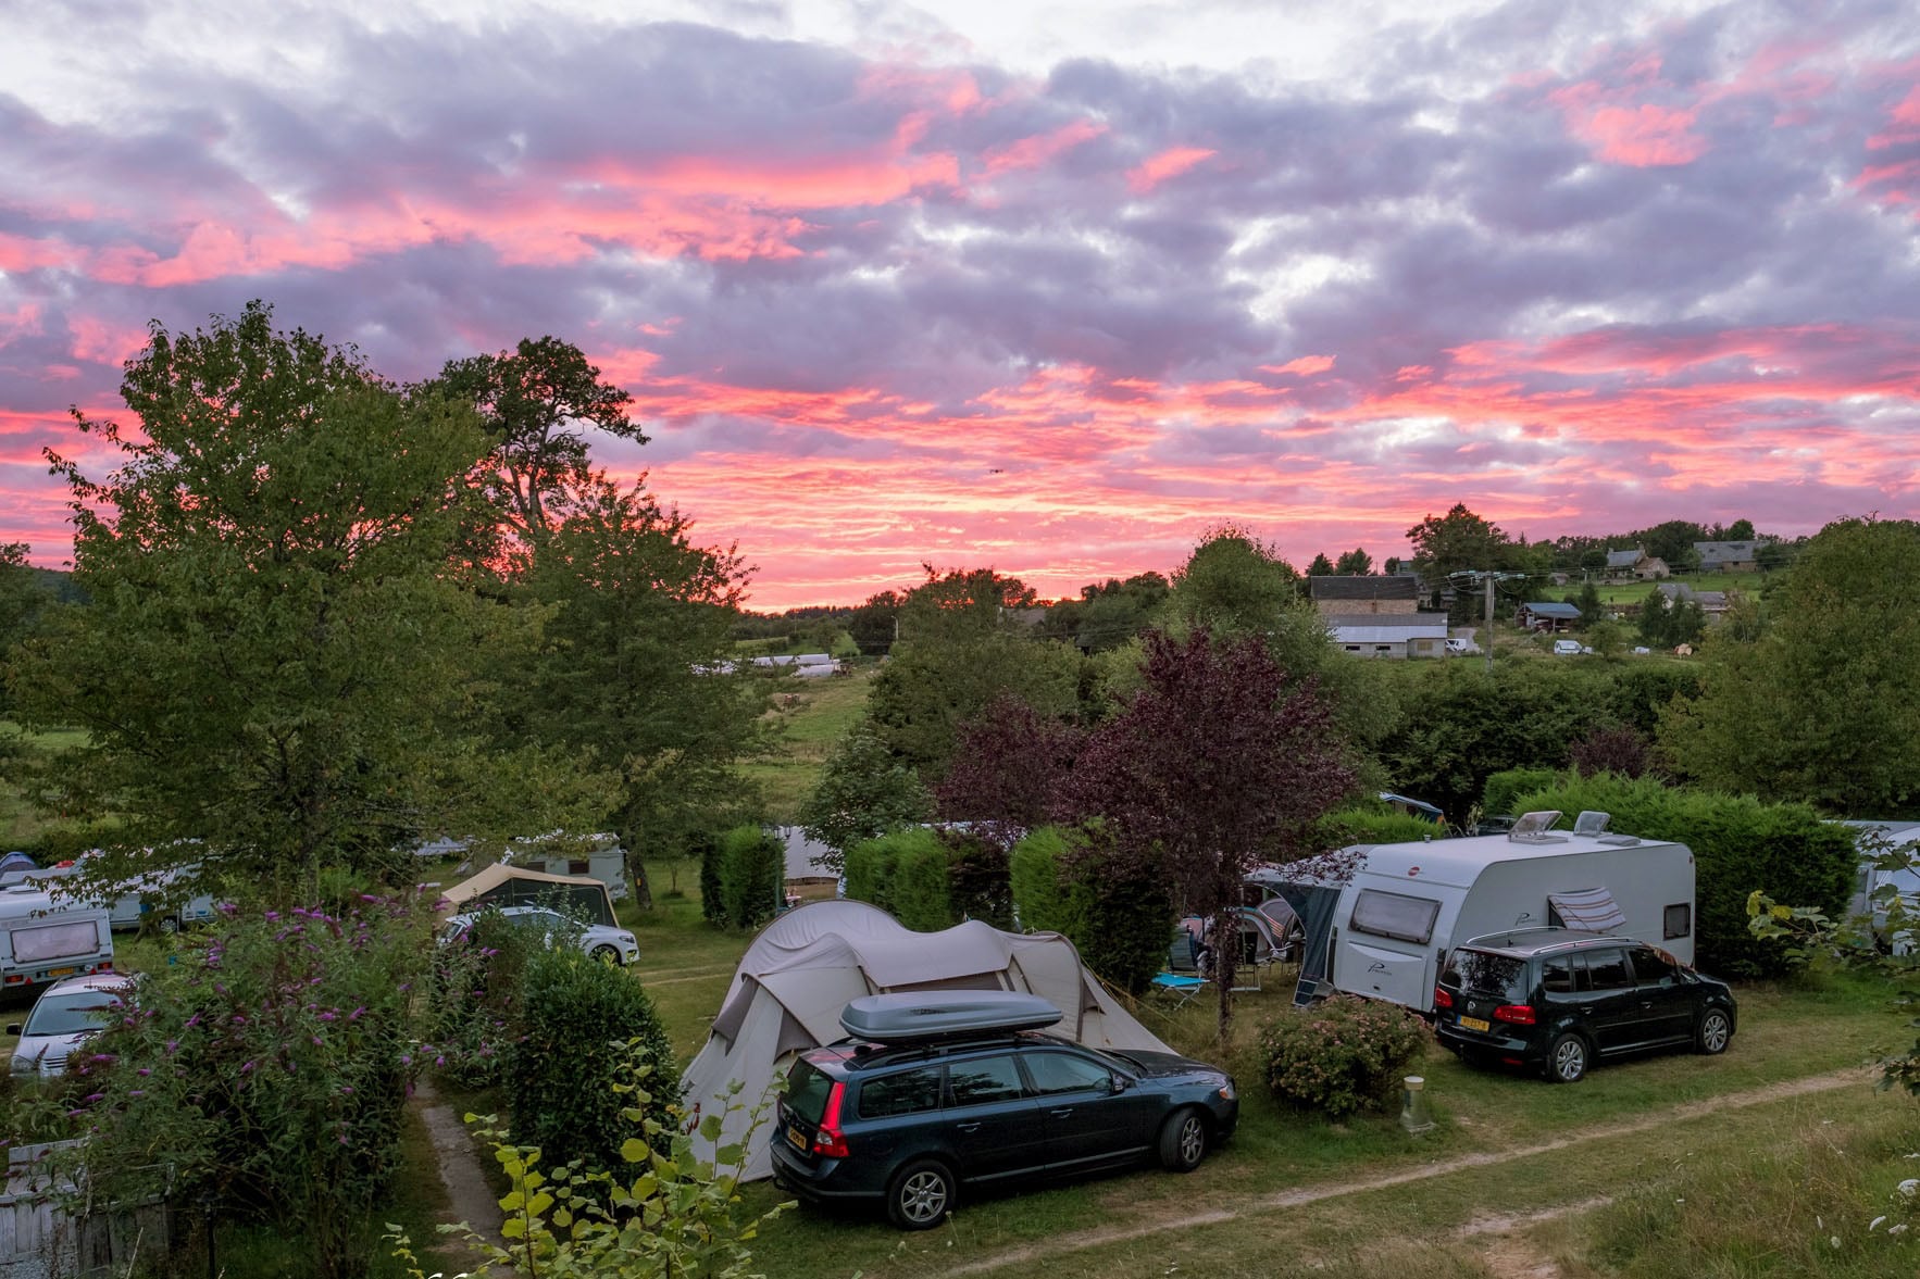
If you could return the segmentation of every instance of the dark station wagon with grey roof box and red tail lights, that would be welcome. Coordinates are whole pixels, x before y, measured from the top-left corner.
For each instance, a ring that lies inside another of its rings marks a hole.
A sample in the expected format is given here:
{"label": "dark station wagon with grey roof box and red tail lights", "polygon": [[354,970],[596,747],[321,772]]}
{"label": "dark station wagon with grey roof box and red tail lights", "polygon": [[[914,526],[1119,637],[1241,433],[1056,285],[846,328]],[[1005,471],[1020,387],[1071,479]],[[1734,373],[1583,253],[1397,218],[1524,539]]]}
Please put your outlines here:
{"label": "dark station wagon with grey roof box and red tail lights", "polygon": [[924,1231],[962,1189],[1148,1162],[1192,1171],[1233,1133],[1240,1102],[1225,1072],[1031,1029],[1056,1020],[1046,1001],[1012,991],[856,999],[841,1026],[879,1039],[793,1064],[774,1181],[810,1202],[885,1204],[895,1225]]}

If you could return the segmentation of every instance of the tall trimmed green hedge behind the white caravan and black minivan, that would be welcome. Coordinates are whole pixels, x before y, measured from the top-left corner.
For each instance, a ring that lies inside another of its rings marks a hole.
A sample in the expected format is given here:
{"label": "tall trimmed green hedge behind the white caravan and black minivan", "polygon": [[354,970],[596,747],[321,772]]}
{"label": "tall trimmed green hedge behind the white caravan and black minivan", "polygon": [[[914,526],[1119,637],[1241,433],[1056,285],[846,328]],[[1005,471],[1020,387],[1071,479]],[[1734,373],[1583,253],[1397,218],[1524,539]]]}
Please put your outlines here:
{"label": "tall trimmed green hedge behind the white caravan and black minivan", "polygon": [[1567,818],[1594,808],[1613,816],[1609,830],[1688,845],[1695,872],[1693,958],[1720,976],[1778,976],[1789,968],[1786,947],[1747,931],[1749,893],[1759,889],[1837,918],[1859,866],[1855,832],[1809,805],[1768,805],[1613,774],[1561,780],[1521,795],[1517,805],[1559,808]]}

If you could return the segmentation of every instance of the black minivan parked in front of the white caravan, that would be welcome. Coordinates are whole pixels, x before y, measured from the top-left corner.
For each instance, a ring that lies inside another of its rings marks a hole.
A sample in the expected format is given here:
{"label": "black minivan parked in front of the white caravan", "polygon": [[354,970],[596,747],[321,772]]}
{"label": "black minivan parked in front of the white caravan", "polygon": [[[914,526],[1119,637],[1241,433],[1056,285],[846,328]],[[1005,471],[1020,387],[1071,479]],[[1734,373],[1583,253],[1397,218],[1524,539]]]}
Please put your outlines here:
{"label": "black minivan parked in front of the white caravan", "polygon": [[1571,928],[1475,937],[1448,954],[1434,987],[1434,1033],[1461,1060],[1559,1083],[1628,1052],[1724,1052],[1736,1012],[1724,981],[1668,953]]}

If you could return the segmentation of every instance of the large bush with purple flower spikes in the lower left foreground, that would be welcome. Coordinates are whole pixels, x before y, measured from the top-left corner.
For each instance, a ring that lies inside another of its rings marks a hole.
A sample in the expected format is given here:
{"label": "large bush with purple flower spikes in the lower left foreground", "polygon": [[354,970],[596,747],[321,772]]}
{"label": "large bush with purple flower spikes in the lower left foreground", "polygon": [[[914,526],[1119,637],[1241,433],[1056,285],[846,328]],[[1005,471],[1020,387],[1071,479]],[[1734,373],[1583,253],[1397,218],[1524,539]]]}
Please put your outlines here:
{"label": "large bush with purple flower spikes in the lower left foreground", "polygon": [[307,1239],[323,1277],[365,1273],[428,1045],[411,999],[432,903],[230,912],[142,976],[96,1041],[75,1118],[109,1196],[157,1189]]}

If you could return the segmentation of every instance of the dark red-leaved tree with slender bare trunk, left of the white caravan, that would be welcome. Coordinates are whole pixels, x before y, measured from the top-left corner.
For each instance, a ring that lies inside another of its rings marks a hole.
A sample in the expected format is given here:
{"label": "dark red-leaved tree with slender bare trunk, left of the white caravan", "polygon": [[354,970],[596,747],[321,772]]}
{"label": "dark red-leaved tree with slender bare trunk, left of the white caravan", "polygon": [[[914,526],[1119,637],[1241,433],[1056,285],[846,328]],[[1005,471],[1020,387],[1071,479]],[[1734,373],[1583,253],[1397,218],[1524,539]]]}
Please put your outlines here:
{"label": "dark red-leaved tree with slender bare trunk, left of the white caravan", "polygon": [[1258,636],[1152,632],[1142,674],[1146,686],[1087,739],[1056,814],[1104,816],[1125,855],[1158,860],[1175,901],[1212,916],[1225,1043],[1246,872],[1313,853],[1308,832],[1354,770],[1327,703]]}

